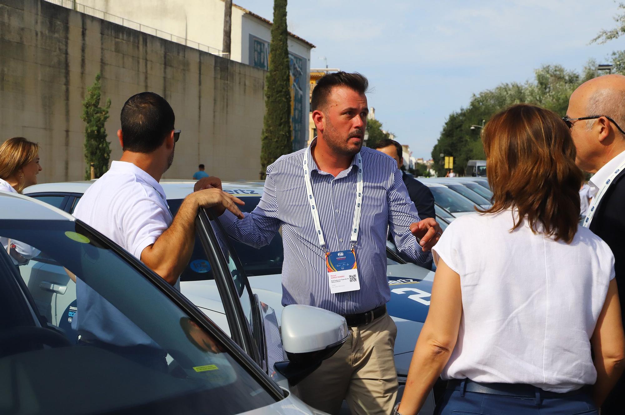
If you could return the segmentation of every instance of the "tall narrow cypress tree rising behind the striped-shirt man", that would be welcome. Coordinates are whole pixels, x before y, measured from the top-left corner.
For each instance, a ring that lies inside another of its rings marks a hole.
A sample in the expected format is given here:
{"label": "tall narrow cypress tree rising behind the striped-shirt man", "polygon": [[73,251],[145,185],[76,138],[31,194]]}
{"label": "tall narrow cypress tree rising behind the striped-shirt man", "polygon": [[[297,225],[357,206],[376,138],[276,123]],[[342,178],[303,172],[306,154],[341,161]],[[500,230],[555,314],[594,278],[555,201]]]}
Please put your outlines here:
{"label": "tall narrow cypress tree rising behind the striped-shirt man", "polygon": [[267,74],[265,116],[261,137],[261,179],[265,178],[268,165],[281,155],[289,154],[293,149],[286,2],[287,0],[274,0],[274,22],[271,27],[269,74]]}

